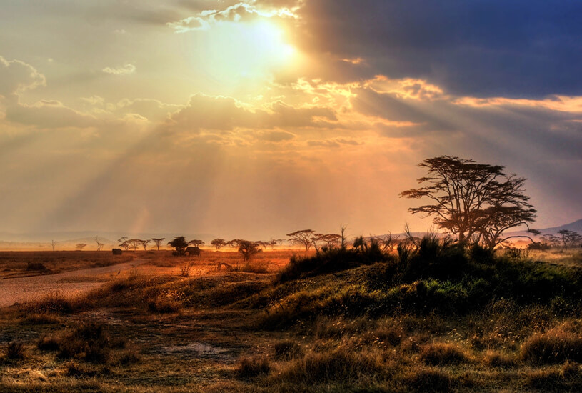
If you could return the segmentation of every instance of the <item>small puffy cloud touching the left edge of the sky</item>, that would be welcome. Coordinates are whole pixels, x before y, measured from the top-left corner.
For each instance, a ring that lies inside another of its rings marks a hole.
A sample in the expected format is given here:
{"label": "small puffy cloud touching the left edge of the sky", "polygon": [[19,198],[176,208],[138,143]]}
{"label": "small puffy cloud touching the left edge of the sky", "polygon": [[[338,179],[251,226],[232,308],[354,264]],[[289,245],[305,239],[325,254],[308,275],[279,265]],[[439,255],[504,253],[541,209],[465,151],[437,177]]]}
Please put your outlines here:
{"label": "small puffy cloud touching the left edge of the sky", "polygon": [[0,56],[0,96],[19,95],[45,84],[44,75],[30,64],[20,60],[9,61]]}

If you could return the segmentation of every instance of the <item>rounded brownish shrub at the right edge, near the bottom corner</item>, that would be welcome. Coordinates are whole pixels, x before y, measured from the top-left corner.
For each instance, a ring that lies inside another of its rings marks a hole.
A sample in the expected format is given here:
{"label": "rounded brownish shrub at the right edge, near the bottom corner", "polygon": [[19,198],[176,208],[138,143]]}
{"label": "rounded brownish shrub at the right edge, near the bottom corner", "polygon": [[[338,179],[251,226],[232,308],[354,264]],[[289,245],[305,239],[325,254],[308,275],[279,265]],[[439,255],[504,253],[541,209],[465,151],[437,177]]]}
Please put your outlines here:
{"label": "rounded brownish shrub at the right edge, near the bottom corner", "polygon": [[532,363],[582,362],[582,337],[563,328],[533,334],[521,347],[521,357]]}

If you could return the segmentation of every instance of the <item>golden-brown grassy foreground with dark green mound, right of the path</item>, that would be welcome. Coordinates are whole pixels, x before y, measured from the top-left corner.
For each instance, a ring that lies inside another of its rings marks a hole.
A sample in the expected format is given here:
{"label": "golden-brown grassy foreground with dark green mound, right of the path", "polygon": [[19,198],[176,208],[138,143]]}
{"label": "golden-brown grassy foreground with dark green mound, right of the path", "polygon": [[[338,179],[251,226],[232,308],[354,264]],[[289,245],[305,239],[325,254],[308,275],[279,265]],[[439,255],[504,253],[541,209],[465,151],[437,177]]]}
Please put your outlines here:
{"label": "golden-brown grassy foreground with dark green mound, right of the path", "polygon": [[577,252],[136,253],[89,294],[2,309],[0,391],[578,392]]}

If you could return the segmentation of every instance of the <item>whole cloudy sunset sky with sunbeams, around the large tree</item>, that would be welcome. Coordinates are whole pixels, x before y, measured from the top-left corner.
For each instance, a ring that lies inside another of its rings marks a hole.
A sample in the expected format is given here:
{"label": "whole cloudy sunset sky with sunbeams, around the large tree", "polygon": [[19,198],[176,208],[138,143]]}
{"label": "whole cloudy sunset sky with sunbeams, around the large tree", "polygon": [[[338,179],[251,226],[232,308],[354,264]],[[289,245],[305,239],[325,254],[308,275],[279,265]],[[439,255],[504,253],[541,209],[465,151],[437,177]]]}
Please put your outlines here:
{"label": "whole cloudy sunset sky with sunbeams, around the large tree", "polygon": [[444,154],[582,218],[582,2],[4,0],[0,232],[431,227]]}

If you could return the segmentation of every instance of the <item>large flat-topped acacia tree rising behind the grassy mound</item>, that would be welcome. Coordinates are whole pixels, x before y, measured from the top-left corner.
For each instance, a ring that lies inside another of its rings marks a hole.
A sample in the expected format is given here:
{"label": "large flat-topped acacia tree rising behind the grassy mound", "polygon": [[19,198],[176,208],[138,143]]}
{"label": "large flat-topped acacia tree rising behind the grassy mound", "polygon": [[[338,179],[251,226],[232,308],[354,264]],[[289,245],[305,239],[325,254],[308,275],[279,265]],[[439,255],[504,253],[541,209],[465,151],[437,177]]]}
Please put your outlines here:
{"label": "large flat-topped acacia tree rising behind the grassy mound", "polygon": [[426,198],[431,203],[408,211],[432,216],[439,228],[454,234],[461,243],[475,239],[493,249],[510,238],[503,237],[507,229],[527,225],[536,217],[524,194],[526,179],[507,176],[503,166],[456,156],[425,159],[418,166],[428,172],[418,179],[423,186],[403,191],[400,196]]}

